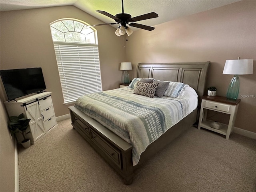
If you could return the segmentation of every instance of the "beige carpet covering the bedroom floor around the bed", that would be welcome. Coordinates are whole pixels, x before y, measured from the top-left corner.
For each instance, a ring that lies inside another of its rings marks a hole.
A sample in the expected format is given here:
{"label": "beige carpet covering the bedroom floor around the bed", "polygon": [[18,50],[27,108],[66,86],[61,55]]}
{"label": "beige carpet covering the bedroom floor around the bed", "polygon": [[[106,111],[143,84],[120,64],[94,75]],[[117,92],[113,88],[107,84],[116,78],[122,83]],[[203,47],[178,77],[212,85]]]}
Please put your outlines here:
{"label": "beige carpet covering the bedroom floor around the bed", "polygon": [[122,178],[72,129],[71,120],[18,148],[20,192],[256,192],[256,140],[191,127]]}

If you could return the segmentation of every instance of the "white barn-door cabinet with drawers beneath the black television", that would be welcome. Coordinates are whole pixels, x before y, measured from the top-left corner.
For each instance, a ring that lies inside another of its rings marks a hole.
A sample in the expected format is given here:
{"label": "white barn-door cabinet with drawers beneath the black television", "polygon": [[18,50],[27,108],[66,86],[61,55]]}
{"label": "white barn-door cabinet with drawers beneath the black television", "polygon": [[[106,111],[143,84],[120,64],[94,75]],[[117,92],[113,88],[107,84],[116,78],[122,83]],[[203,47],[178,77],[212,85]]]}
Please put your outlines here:
{"label": "white barn-door cabinet with drawers beneath the black television", "polygon": [[[52,105],[51,93],[42,92],[18,98],[15,101],[4,102],[9,116],[19,116],[23,113],[26,118],[31,119],[29,122],[31,134],[28,134],[31,143],[34,143],[51,128],[58,125]],[[20,143],[22,136],[16,137],[18,143]]]}

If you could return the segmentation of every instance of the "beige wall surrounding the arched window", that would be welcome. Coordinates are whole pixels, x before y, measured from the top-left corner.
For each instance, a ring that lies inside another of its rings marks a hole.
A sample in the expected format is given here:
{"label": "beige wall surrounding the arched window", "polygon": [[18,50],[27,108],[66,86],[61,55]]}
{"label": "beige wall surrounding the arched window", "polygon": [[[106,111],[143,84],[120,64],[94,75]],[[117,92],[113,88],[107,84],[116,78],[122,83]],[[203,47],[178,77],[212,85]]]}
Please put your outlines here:
{"label": "beige wall surrounding the arched window", "polygon": [[[1,70],[42,67],[46,91],[52,92],[56,116],[68,114],[63,104],[62,89],[50,32],[50,23],[61,18],[75,18],[88,24],[100,20],[74,6],[40,8],[1,12]],[[125,61],[123,41],[114,34],[112,26],[96,27],[100,54],[102,88],[119,87]]]}

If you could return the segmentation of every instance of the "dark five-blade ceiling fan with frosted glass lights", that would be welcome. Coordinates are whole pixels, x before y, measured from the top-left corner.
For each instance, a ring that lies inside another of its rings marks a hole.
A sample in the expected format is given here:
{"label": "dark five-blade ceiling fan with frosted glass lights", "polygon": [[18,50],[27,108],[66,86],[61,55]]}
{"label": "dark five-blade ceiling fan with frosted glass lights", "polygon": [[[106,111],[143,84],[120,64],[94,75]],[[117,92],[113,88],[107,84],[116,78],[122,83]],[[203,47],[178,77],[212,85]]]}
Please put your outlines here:
{"label": "dark five-blade ceiling fan with frosted glass lights", "polygon": [[132,18],[132,16],[130,14],[124,13],[124,1],[123,0],[122,0],[122,13],[116,14],[114,16],[112,14],[109,14],[106,11],[97,10],[96,12],[114,19],[116,21],[116,23],[105,23],[105,24],[91,25],[91,26],[87,26],[87,27],[120,24],[120,26],[118,26],[118,28],[115,32],[115,34],[117,36],[124,35],[125,33],[128,36],[130,36],[132,34],[133,31],[131,30],[131,28],[126,26],[127,24],[132,27],[152,31],[152,30],[154,30],[154,27],[146,26],[146,25],[142,25],[142,24],[138,24],[138,23],[134,23],[134,22],[158,17],[158,14],[156,14],[155,12],[151,12],[148,14],[144,14],[144,15],[140,15],[140,16],[136,16],[136,17]]}

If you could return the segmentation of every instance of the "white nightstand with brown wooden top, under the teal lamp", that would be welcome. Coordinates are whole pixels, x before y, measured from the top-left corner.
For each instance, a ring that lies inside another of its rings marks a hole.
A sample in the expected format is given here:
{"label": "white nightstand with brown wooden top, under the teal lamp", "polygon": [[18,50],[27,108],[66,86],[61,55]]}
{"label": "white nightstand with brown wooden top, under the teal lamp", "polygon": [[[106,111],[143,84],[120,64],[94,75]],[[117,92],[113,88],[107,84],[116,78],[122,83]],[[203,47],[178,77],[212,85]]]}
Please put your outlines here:
{"label": "white nightstand with brown wooden top, under the teal lamp", "polygon": [[[226,139],[228,139],[233,130],[240,101],[240,99],[228,100],[226,97],[221,96],[202,96],[198,129],[201,127],[206,128],[222,135],[226,135]],[[212,128],[210,126],[212,121],[207,120],[208,110],[230,114],[228,125],[222,124],[222,128],[220,129]]]}

